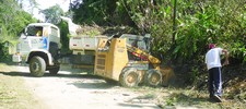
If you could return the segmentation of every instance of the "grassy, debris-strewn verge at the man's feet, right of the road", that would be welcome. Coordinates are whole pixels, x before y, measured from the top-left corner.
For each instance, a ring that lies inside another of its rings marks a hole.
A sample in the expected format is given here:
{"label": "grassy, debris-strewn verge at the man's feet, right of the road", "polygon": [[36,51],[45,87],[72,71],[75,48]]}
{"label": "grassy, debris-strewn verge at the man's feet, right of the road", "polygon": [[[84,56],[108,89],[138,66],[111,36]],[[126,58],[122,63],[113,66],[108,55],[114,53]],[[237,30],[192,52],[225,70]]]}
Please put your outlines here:
{"label": "grassy, debris-strewn verge at the man's feet, right of the road", "polygon": [[136,87],[133,92],[144,94],[139,99],[154,100],[163,109],[246,109],[246,104],[239,99],[229,99],[223,95],[223,102],[214,102],[209,99],[207,90],[184,89],[174,87]]}

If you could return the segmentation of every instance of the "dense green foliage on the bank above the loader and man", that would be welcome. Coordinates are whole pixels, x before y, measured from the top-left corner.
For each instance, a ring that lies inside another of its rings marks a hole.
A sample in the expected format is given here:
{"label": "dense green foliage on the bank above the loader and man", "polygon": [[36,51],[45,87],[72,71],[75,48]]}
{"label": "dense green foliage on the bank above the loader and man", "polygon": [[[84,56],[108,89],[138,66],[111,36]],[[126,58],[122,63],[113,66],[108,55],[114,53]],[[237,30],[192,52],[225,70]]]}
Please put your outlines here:
{"label": "dense green foliage on the bank above the loader and man", "polygon": [[245,0],[177,0],[175,43],[174,0],[79,1],[71,7],[77,23],[129,25],[140,34],[151,33],[153,51],[168,53],[176,62],[203,62],[210,43],[229,49],[234,59],[246,59]]}

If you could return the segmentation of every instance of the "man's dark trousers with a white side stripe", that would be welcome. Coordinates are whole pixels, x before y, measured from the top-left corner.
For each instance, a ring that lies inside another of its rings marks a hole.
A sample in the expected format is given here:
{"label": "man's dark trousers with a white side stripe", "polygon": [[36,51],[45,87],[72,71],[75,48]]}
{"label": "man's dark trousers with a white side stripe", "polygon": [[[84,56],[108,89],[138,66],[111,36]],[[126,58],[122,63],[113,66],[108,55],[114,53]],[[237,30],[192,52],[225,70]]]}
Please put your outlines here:
{"label": "man's dark trousers with a white side stripe", "polygon": [[209,94],[210,97],[214,95],[222,96],[221,68],[209,70]]}

